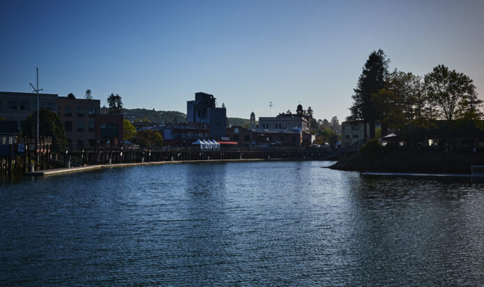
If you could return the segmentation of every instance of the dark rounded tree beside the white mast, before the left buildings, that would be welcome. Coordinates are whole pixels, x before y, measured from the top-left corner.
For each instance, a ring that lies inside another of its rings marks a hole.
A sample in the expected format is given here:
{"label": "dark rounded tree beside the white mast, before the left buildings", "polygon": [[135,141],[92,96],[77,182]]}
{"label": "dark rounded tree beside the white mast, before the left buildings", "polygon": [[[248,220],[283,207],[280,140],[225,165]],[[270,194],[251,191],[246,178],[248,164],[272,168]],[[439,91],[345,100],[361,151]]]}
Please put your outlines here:
{"label": "dark rounded tree beside the white mast, before the left buildings", "polygon": [[[25,121],[22,121],[22,136],[31,136],[37,131],[37,111],[29,114]],[[45,107],[39,109],[39,135],[40,137],[51,137],[51,149],[60,152],[67,146],[65,128],[58,114],[47,110]]]}

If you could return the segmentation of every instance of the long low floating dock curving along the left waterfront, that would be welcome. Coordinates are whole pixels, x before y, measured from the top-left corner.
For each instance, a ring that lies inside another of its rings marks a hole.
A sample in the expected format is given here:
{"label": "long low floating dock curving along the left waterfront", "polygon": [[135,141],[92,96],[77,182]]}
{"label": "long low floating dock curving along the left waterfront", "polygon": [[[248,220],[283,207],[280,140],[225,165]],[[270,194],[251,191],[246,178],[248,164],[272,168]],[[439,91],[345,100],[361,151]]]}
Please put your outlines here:
{"label": "long low floating dock curving along the left waterfront", "polygon": [[[314,160],[314,159],[311,159]],[[122,168],[129,166],[152,166],[163,164],[201,164],[201,163],[220,163],[220,162],[271,162],[271,161],[309,161],[309,159],[207,159],[207,160],[179,160],[164,162],[133,162],[127,164],[96,164],[93,166],[79,166],[73,168],[52,168],[42,171],[26,171],[24,176],[52,176],[66,173],[80,173],[82,171],[94,171],[102,168]]]}

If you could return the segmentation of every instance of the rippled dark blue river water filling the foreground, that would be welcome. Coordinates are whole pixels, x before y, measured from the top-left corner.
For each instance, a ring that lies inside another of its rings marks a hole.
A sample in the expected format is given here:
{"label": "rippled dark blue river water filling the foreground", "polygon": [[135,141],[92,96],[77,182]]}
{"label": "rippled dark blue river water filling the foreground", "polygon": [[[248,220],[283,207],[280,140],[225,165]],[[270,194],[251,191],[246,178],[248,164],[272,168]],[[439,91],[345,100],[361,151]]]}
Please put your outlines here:
{"label": "rippled dark blue river water filling the foreground", "polygon": [[483,286],[479,184],[331,162],[113,168],[0,184],[2,285]]}

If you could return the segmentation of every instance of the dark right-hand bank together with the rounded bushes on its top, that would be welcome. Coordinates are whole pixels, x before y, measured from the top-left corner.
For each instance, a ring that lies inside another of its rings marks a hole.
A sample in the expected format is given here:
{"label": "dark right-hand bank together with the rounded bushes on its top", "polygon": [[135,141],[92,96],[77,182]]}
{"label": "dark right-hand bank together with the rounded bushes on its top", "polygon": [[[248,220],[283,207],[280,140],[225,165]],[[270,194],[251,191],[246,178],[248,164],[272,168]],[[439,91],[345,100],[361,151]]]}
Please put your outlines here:
{"label": "dark right-hand bank together with the rounded bushes on its top", "polygon": [[469,174],[471,166],[483,165],[483,162],[483,153],[403,150],[398,143],[380,146],[378,140],[372,139],[358,153],[342,157],[331,168],[362,172]]}

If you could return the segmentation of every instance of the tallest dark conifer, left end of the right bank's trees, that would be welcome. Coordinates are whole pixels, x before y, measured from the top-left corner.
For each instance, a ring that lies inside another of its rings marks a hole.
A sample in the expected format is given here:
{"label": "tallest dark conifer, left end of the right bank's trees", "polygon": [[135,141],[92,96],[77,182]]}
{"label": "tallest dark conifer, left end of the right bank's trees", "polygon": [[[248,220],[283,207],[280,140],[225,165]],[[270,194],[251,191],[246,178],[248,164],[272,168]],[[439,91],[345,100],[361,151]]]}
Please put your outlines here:
{"label": "tallest dark conifer, left end of the right bank's trees", "polygon": [[[353,105],[350,107],[350,116],[347,121],[362,121],[370,125],[370,138],[375,137],[375,123],[380,120],[378,109],[372,101],[372,95],[385,87],[385,80],[389,74],[389,60],[380,49],[373,51],[364,64],[362,74],[354,89]],[[366,124],[364,125],[364,141],[366,142]]]}

